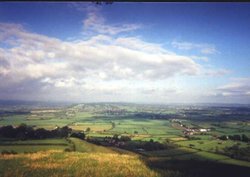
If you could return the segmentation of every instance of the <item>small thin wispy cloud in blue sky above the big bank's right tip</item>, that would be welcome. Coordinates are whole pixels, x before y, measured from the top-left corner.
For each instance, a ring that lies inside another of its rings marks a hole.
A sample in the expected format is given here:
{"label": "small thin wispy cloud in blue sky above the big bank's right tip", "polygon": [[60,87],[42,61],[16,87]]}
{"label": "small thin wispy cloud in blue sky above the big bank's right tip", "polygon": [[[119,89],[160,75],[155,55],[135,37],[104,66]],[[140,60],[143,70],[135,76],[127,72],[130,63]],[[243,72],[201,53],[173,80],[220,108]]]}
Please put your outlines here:
{"label": "small thin wispy cloud in blue sky above the big bank's right tip", "polygon": [[199,50],[202,54],[215,54],[217,50],[214,45],[211,44],[197,44],[191,42],[178,42],[173,41],[172,46],[180,50]]}

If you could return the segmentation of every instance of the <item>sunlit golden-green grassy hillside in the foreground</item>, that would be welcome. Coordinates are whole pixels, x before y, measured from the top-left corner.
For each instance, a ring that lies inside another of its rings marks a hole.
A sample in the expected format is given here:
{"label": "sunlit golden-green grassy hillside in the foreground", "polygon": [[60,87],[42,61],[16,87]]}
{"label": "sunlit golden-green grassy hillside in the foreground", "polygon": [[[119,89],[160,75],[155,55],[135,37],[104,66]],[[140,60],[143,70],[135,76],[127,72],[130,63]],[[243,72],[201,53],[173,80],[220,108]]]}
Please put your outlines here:
{"label": "sunlit golden-green grassy hillside in the foreground", "polygon": [[49,150],[29,154],[0,155],[0,176],[159,176],[149,169],[138,155],[118,153],[75,138],[71,138],[71,141],[80,152]]}

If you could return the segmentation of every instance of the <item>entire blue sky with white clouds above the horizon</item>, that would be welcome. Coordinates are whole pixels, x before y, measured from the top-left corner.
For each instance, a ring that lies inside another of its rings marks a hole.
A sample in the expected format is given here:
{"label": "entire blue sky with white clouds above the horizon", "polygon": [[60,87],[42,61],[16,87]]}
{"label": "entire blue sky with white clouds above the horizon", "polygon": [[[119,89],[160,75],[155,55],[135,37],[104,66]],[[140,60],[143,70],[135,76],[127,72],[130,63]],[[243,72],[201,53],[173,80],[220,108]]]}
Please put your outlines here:
{"label": "entire blue sky with white clouds above the horizon", "polygon": [[1,2],[0,100],[250,103],[249,3]]}

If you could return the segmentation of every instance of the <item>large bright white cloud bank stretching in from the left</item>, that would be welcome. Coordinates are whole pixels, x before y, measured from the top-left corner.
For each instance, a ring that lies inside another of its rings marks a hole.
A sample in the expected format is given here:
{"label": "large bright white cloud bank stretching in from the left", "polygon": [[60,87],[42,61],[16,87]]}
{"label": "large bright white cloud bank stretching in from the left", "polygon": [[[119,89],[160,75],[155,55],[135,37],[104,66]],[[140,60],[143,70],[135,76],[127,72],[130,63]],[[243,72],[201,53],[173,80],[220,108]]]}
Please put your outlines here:
{"label": "large bright white cloud bank stretching in from the left", "polygon": [[[58,93],[58,89],[76,91],[76,96],[90,91],[122,94],[133,89],[126,83],[136,80],[199,73],[201,66],[191,57],[138,37],[114,37],[112,34],[136,28],[108,27],[99,20],[96,23],[90,15],[84,21],[84,26],[99,29],[98,34],[72,41],[33,33],[19,24],[1,23],[1,96],[46,95],[46,91]],[[106,33],[99,34],[102,30]],[[123,86],[117,87],[121,81]]]}

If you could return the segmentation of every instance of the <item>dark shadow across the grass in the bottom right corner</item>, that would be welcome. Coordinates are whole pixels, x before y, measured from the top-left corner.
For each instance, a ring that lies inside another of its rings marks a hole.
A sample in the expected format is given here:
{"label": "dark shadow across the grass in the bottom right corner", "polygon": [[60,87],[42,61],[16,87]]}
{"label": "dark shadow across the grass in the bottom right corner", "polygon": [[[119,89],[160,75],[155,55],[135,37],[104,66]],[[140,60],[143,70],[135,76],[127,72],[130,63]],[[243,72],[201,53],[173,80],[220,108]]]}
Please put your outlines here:
{"label": "dark shadow across the grass in the bottom right corner", "polygon": [[149,168],[164,177],[249,177],[250,168],[199,160],[148,159]]}

